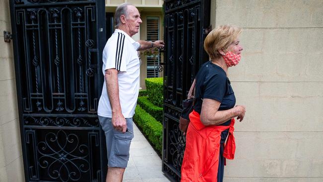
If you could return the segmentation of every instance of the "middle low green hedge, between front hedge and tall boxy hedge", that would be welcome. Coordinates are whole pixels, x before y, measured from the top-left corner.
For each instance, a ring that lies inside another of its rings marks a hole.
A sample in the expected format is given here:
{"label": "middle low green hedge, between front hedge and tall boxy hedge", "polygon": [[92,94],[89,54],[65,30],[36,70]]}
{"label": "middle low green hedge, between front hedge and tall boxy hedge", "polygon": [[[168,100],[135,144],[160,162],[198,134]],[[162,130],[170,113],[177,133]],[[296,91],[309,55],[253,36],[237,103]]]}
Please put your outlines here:
{"label": "middle low green hedge, between front hedge and tall boxy hedge", "polygon": [[148,100],[147,96],[138,97],[138,104],[142,107],[146,112],[155,117],[157,121],[162,123],[162,108],[154,105],[152,102]]}

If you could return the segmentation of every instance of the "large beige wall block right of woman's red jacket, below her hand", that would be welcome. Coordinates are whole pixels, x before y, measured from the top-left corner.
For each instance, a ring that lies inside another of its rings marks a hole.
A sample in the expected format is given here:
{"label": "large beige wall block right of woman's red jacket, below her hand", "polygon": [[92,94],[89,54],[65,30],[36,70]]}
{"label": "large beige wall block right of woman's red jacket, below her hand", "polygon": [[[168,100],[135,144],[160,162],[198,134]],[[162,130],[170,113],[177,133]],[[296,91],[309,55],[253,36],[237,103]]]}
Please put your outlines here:
{"label": "large beige wall block right of woman's red jacket, below her hand", "polygon": [[236,132],[235,136],[236,158],[227,160],[225,177],[323,176],[322,132]]}

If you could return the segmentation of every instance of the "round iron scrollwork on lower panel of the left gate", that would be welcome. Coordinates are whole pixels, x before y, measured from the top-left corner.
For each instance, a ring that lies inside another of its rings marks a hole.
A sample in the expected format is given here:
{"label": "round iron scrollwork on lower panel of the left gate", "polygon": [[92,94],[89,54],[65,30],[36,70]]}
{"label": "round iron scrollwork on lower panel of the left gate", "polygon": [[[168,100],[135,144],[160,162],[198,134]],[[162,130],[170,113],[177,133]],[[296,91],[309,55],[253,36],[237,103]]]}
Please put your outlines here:
{"label": "round iron scrollwork on lower panel of the left gate", "polygon": [[90,169],[88,146],[80,144],[76,134],[65,131],[47,133],[44,141],[37,144],[39,166],[47,169],[48,176],[62,182],[78,181],[82,173]]}

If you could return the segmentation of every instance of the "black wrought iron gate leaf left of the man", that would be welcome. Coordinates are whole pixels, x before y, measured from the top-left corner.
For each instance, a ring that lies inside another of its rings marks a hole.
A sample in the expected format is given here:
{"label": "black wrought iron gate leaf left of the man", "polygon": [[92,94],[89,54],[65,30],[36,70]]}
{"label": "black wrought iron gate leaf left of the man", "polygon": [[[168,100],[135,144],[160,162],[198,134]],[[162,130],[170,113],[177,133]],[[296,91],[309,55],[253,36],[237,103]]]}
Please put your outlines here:
{"label": "black wrought iron gate leaf left of the man", "polygon": [[104,0],[10,0],[26,182],[104,182]]}

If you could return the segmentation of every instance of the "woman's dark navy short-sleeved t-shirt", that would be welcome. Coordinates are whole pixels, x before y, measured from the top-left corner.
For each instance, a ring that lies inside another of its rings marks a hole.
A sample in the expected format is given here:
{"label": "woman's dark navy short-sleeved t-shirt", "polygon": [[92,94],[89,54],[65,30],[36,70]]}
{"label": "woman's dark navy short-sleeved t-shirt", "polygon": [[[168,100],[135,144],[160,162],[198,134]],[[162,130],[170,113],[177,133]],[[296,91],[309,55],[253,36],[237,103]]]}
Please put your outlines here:
{"label": "woman's dark navy short-sleeved t-shirt", "polygon": [[[204,63],[196,75],[194,110],[201,114],[202,99],[211,98],[221,102],[219,110],[228,110],[235,106],[236,97],[226,72],[211,61]],[[231,119],[220,124],[228,126]],[[221,143],[227,138],[228,130],[221,134]]]}

